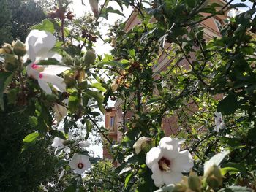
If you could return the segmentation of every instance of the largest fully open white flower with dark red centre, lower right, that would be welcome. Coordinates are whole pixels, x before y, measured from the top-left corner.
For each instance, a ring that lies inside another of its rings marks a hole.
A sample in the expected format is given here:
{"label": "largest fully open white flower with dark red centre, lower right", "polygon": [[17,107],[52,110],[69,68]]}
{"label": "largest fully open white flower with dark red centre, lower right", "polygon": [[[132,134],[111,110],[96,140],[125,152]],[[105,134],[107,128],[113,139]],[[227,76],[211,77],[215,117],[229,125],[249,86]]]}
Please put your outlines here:
{"label": "largest fully open white flower with dark red centre, lower right", "polygon": [[180,182],[181,173],[192,168],[192,155],[188,150],[180,151],[178,145],[178,139],[163,137],[159,146],[146,154],[146,165],[152,169],[151,177],[157,187]]}

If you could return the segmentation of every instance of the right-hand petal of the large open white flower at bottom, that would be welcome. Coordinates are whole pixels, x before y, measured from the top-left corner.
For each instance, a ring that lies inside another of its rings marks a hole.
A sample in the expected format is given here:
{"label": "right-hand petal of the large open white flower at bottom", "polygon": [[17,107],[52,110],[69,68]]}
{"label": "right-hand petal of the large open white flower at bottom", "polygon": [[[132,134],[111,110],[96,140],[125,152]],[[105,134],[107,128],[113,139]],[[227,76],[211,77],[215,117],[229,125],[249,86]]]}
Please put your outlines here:
{"label": "right-hand petal of the large open white flower at bottom", "polygon": [[189,172],[193,167],[193,158],[188,150],[183,150],[178,153],[177,157],[174,158],[171,163],[171,170],[173,172]]}

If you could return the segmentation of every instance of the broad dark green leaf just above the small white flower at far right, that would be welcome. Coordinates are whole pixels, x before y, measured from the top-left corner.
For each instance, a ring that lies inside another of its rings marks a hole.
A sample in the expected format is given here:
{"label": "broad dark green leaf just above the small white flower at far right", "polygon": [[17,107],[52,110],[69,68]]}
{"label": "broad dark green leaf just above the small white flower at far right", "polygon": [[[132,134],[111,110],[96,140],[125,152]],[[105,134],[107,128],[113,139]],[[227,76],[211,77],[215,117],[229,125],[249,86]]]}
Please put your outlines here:
{"label": "broad dark green leaf just above the small white flower at far right", "polygon": [[236,112],[239,107],[237,98],[235,95],[228,95],[222,101],[219,101],[217,110],[225,115],[231,115]]}

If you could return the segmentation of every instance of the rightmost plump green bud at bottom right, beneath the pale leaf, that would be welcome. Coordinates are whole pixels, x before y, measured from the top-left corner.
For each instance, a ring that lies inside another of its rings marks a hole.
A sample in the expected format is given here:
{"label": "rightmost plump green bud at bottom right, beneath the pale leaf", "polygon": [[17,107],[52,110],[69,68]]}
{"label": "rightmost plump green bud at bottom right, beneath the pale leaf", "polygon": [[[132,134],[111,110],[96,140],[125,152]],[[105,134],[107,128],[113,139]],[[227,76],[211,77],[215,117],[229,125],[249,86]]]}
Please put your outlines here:
{"label": "rightmost plump green bud at bottom right, beneath the pale leaf", "polygon": [[204,176],[206,177],[206,183],[211,188],[217,188],[222,185],[223,176],[216,165],[211,166]]}

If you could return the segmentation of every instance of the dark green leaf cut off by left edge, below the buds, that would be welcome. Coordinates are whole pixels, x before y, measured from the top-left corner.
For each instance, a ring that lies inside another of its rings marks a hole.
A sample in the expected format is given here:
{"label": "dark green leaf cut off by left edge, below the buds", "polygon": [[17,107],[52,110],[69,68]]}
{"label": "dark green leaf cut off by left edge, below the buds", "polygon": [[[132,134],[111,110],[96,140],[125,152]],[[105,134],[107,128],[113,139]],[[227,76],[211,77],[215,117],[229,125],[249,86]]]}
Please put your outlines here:
{"label": "dark green leaf cut off by left edge, below the buds", "polygon": [[12,81],[13,74],[11,72],[0,72],[0,107],[4,111],[4,90]]}

